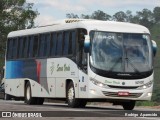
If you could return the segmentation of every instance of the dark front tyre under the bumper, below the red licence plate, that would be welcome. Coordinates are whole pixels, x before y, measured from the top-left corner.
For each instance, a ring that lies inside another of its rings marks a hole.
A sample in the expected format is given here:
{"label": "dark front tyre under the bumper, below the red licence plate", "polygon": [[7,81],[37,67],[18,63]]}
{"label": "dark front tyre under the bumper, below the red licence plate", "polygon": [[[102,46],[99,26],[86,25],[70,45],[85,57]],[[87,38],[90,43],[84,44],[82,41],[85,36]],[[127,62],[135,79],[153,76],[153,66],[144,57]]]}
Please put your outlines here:
{"label": "dark front tyre under the bumper, below the red licence plate", "polygon": [[124,110],[133,110],[135,104],[136,104],[136,101],[129,101],[129,102],[122,103],[122,106]]}

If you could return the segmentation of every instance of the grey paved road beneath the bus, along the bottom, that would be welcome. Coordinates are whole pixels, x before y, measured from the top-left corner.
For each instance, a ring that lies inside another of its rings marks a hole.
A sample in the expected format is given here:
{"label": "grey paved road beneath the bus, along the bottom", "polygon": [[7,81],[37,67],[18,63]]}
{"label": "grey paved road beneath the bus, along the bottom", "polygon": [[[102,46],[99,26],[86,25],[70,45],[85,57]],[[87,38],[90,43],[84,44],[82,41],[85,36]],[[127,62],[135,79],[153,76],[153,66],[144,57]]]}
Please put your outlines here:
{"label": "grey paved road beneath the bus, along the bottom", "polygon": [[[153,115],[157,113],[158,109],[135,108],[133,111],[124,111],[122,107],[119,106],[87,105],[86,108],[73,109],[62,103],[26,105],[23,101],[0,100],[0,111],[0,114],[2,114],[2,112],[11,111],[12,116],[14,116],[12,118],[0,118],[1,120],[160,120],[158,117],[134,117],[136,115],[140,115],[141,113],[142,115]],[[37,114],[33,114],[35,112]],[[16,115],[27,117],[17,118]],[[39,118],[32,118],[31,116],[34,115]],[[132,117],[125,117],[125,115]],[[28,116],[30,116],[30,118],[28,118]],[[40,118],[41,116],[42,118]]]}

